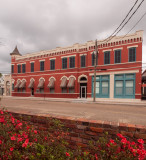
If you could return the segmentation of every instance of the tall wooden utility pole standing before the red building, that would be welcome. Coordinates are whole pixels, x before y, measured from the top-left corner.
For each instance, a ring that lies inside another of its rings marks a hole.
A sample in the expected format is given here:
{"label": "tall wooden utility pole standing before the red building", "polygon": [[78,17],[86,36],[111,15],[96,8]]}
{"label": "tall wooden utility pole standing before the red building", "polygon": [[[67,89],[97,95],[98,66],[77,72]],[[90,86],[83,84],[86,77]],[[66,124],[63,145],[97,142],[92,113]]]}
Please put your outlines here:
{"label": "tall wooden utility pole standing before the red building", "polygon": [[96,66],[97,66],[97,56],[98,56],[98,48],[97,48],[97,39],[95,40],[95,52],[94,52],[94,91],[93,91],[93,102],[96,99]]}

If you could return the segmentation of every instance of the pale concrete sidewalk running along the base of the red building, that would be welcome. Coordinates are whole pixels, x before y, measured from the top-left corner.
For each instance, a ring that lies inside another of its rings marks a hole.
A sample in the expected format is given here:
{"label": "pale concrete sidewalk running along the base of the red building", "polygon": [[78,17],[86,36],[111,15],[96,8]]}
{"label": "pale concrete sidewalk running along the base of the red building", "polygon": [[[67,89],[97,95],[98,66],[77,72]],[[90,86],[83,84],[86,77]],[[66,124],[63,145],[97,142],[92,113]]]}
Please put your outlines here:
{"label": "pale concrete sidewalk running along the base of the red building", "polygon": [[121,105],[142,105],[146,107],[146,100],[139,99],[109,99],[109,98],[96,98],[96,102],[93,102],[93,98],[87,99],[71,99],[71,98],[44,98],[44,97],[12,97],[2,96],[1,98],[7,99],[28,99],[34,101],[51,101],[51,102],[68,102],[68,103],[97,103],[97,104],[121,104]]}

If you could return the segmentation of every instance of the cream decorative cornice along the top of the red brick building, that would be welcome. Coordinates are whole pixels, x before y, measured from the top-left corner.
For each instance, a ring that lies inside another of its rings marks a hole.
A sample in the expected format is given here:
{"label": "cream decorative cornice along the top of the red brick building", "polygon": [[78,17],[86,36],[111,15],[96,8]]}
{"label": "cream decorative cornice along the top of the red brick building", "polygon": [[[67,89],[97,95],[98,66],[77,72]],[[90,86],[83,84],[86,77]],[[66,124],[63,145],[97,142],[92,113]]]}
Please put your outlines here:
{"label": "cream decorative cornice along the top of the red brick building", "polygon": [[[139,30],[136,31],[133,34],[128,34],[124,36],[115,36],[111,40],[99,40],[98,41],[98,48],[107,48],[107,47],[113,47],[113,46],[118,46],[122,44],[127,44],[131,42],[139,42],[142,41],[143,38],[143,31]],[[87,41],[84,44],[79,44],[75,43],[72,46],[68,47],[56,47],[55,49],[52,50],[46,50],[46,51],[40,51],[40,52],[35,52],[35,53],[28,53],[22,56],[16,57],[16,60],[23,60],[23,59],[33,59],[33,58],[40,58],[40,57],[50,57],[50,56],[56,56],[56,55],[66,55],[66,54],[72,54],[72,53],[77,53],[77,52],[86,52],[89,50],[94,50],[95,49],[95,41]]]}

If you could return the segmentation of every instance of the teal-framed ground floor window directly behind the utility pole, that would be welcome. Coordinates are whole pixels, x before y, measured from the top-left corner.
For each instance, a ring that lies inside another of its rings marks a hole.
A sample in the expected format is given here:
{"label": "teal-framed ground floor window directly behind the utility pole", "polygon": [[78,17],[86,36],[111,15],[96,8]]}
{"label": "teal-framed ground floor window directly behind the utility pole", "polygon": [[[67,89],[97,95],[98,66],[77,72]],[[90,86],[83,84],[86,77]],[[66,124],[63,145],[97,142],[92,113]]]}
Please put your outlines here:
{"label": "teal-framed ground floor window directly behind the utility pole", "polygon": [[[92,77],[92,96],[94,93],[94,77]],[[95,93],[98,98],[109,98],[109,75],[96,76]]]}

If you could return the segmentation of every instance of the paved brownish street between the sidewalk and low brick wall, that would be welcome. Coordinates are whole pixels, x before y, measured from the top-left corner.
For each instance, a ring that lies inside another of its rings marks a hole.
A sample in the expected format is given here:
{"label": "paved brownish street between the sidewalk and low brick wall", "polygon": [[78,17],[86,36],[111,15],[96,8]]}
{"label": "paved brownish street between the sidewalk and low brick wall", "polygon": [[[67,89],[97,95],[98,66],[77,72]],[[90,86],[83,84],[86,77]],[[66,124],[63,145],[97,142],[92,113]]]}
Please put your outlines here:
{"label": "paved brownish street between the sidewalk and low brick wall", "polygon": [[2,98],[9,111],[39,115],[59,115],[90,120],[104,120],[146,125],[146,105],[95,104],[39,99]]}

